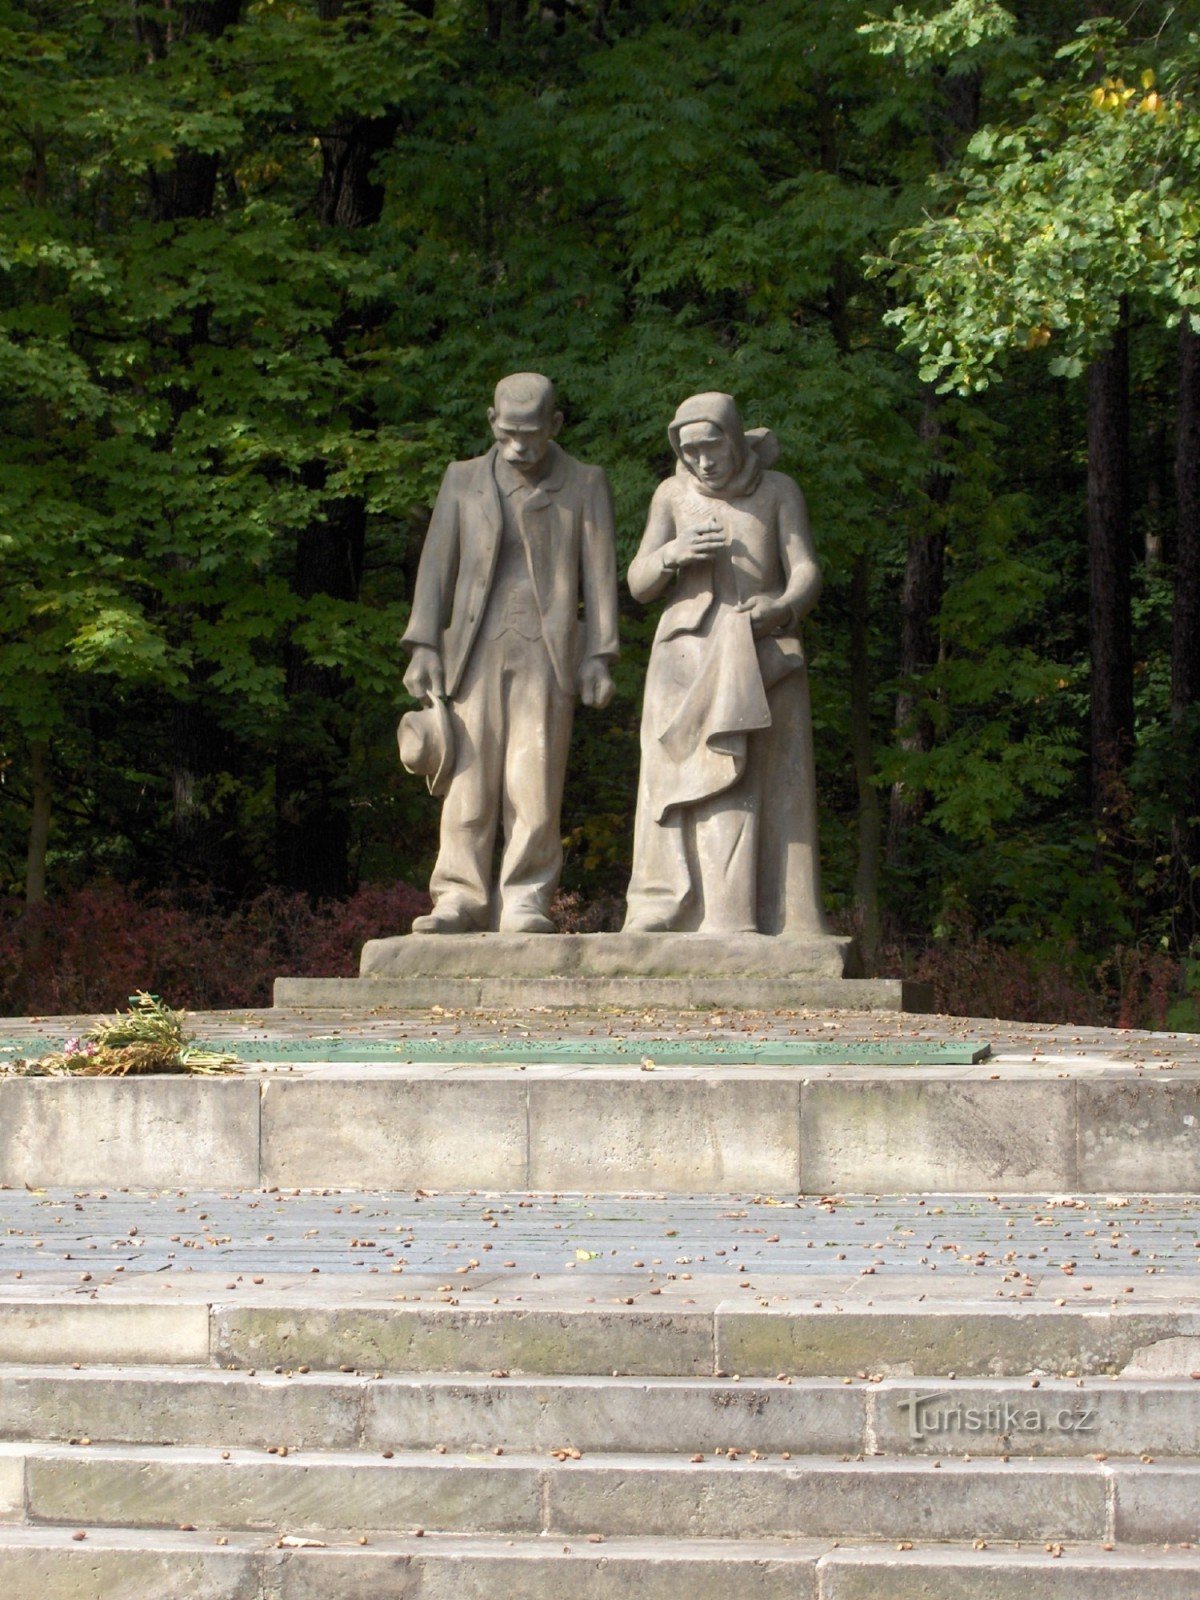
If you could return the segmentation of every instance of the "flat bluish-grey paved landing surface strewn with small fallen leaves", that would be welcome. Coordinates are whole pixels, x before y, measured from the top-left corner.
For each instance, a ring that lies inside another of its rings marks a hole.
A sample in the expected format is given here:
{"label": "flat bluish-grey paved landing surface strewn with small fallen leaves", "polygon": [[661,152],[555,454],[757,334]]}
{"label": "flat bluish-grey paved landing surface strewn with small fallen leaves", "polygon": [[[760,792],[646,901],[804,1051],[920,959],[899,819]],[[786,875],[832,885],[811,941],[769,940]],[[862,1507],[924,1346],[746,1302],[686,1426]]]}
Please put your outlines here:
{"label": "flat bluish-grey paved landing surface strewn with small fallen leaves", "polygon": [[213,1282],[318,1267],[366,1288],[381,1272],[450,1274],[459,1288],[562,1274],[579,1294],[613,1274],[648,1290],[746,1267],[797,1293],[821,1280],[1141,1298],[1200,1272],[1200,1197],[0,1189],[0,1285],[46,1272],[112,1285],[117,1267]]}

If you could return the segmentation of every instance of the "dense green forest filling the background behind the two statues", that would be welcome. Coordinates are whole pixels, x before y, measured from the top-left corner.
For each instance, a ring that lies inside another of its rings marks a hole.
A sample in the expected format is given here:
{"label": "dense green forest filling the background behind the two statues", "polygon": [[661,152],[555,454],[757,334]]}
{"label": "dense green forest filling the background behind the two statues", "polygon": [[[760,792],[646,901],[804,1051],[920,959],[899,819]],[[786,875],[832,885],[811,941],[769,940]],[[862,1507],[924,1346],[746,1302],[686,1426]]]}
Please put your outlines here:
{"label": "dense green forest filling the background behind the two statues", "polygon": [[[683,395],[779,435],[877,970],[1200,1026],[1200,16],[1104,10],[0,0],[0,1010],[262,1003],[406,926],[397,640],[534,368],[622,562]],[[568,928],[619,917],[653,622],[576,718]]]}

